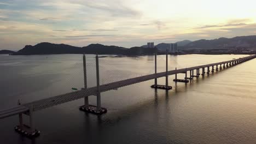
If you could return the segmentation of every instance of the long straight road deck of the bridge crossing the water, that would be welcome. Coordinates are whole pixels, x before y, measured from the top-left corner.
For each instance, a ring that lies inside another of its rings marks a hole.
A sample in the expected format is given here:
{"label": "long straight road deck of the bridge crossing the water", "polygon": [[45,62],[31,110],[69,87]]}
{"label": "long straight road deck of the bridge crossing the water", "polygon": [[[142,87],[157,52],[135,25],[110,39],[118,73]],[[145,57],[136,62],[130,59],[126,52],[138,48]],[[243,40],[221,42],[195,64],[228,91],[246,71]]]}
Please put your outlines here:
{"label": "long straight road deck of the bridge crossing the water", "polygon": [[[251,59],[251,58],[255,58],[255,57],[256,57],[256,55],[253,55],[253,56],[248,56],[248,57],[244,57],[244,58],[233,59],[231,61],[200,65],[200,66],[184,68],[184,69],[170,70],[170,71],[167,71],[167,75],[185,73],[185,71],[189,71],[189,70],[212,67],[213,65],[225,64],[225,63],[235,62],[235,61],[238,61],[238,60]],[[101,92],[106,92],[106,91],[109,91],[111,89],[124,87],[124,86],[128,86],[128,85],[132,85],[134,83],[148,81],[148,80],[152,80],[152,79],[159,78],[159,77],[164,77],[164,76],[166,76],[166,72],[161,72],[161,73],[157,73],[157,74],[150,74],[150,75],[145,75],[145,76],[139,76],[139,77],[135,77],[135,78],[132,78],[132,79],[121,80],[121,81],[118,81],[118,82],[112,82],[112,83],[108,83],[106,85],[101,85],[100,86],[100,91]],[[95,95],[96,93],[97,93],[97,87],[91,87],[91,88],[83,89],[83,90],[76,91],[76,92],[57,95],[55,97],[50,97],[50,98],[45,98],[45,99],[41,99],[41,100],[37,100],[37,101],[32,101],[31,103],[23,104],[21,106],[13,108],[13,109],[0,111],[0,118],[4,118],[4,117],[7,117],[7,116],[16,115],[18,113],[25,112],[25,111],[28,110],[28,107],[31,104],[33,104],[34,111],[37,111],[37,110],[42,110],[42,109],[45,109],[47,107],[51,107],[51,106],[54,106],[54,105],[59,105],[59,104],[62,104],[62,103],[66,103],[68,101],[80,99],[80,98],[83,98],[83,97],[88,97],[90,95]]]}

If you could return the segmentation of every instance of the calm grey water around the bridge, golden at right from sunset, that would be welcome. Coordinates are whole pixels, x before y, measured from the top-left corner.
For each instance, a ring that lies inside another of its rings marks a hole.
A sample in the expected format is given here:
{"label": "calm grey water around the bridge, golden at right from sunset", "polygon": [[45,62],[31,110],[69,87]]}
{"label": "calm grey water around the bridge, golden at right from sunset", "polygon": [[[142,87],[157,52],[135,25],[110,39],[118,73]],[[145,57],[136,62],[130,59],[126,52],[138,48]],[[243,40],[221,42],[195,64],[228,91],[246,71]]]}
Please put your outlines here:
{"label": "calm grey water around the bridge, golden at right from sunset", "polygon": [[[168,69],[228,61],[246,55],[169,56]],[[88,86],[96,84],[95,55],[86,55]],[[169,92],[154,80],[102,93],[102,116],[78,110],[83,99],[37,111],[41,135],[14,131],[18,116],[0,119],[0,143],[255,143],[256,59],[184,83]],[[82,55],[0,55],[0,109],[83,87]],[[158,71],[165,56],[158,56]],[[101,83],[154,73],[154,56],[101,57]],[[178,78],[184,78],[179,74]],[[158,79],[165,84],[165,78]],[[96,104],[96,97],[89,98]],[[28,123],[28,118],[25,117]]]}

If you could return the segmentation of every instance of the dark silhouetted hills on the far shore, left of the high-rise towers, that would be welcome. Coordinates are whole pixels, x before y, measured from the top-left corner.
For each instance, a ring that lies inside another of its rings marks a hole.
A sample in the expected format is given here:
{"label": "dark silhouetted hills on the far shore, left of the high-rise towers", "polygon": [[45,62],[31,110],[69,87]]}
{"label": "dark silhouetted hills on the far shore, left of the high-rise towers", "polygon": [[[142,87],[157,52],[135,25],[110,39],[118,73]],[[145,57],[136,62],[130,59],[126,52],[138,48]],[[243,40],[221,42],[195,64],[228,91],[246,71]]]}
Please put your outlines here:
{"label": "dark silhouetted hills on the far shore, left of the high-rise towers", "polygon": [[90,44],[84,47],[76,47],[65,44],[39,43],[37,45],[26,45],[23,49],[13,55],[47,55],[64,53],[87,53],[99,55],[153,55],[155,49],[143,47],[132,47],[127,49],[119,46],[107,46],[101,44]]}

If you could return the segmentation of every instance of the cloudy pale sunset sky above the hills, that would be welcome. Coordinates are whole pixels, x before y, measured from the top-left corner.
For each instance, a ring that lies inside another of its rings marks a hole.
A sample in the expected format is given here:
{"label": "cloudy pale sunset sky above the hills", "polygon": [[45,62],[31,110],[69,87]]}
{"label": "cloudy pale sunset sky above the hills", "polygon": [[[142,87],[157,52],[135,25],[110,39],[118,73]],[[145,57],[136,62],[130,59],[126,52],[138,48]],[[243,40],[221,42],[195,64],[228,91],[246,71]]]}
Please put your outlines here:
{"label": "cloudy pale sunset sky above the hills", "polygon": [[256,35],[254,0],[0,0],[0,50]]}

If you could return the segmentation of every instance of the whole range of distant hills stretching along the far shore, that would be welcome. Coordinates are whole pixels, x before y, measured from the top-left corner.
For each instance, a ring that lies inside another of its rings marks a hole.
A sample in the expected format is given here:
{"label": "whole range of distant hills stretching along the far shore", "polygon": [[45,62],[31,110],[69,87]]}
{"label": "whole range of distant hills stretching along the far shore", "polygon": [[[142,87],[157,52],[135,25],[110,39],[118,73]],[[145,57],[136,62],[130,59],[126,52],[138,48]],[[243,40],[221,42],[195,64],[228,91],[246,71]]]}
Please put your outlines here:
{"label": "whole range of distant hills stretching along the far shore", "polygon": [[[211,50],[211,49],[255,49],[256,35],[235,37],[235,38],[219,38],[213,40],[183,40],[178,41],[179,50]],[[165,51],[168,47],[167,43],[161,43],[155,46],[158,53]],[[100,55],[153,55],[156,49],[149,49],[147,45],[140,47],[131,47],[127,49],[119,46],[107,46],[101,44],[90,44],[84,47],[71,46],[66,44],[39,43],[37,45],[26,45],[18,52],[2,50],[0,53],[13,53],[13,55],[45,55],[45,54],[63,54],[63,53],[88,53]]]}

